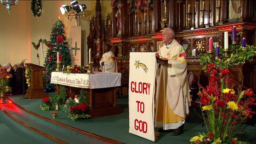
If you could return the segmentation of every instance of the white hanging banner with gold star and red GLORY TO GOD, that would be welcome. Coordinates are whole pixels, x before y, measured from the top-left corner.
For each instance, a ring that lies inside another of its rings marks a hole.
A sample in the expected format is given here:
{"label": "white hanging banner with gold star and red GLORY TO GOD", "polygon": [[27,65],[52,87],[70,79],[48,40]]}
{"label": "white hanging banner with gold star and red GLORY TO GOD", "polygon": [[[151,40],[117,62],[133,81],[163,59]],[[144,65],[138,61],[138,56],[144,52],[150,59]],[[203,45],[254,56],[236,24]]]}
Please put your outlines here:
{"label": "white hanging banner with gold star and red GLORY TO GOD", "polygon": [[156,52],[130,52],[129,132],[155,141]]}

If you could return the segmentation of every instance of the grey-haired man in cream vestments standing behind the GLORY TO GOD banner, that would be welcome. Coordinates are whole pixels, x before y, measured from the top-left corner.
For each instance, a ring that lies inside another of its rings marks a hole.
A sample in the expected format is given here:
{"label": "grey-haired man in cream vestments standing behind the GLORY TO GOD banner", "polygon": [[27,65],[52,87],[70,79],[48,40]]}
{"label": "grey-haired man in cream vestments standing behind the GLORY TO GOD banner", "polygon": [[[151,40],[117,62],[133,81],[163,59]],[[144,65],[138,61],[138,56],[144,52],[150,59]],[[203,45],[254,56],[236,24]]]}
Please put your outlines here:
{"label": "grey-haired man in cream vestments standing behind the GLORY TO GOD banner", "polygon": [[174,39],[174,31],[164,28],[165,43],[156,56],[168,60],[156,72],[155,127],[168,130],[172,135],[183,132],[186,115],[189,114],[190,94],[187,76],[187,56],[184,48]]}

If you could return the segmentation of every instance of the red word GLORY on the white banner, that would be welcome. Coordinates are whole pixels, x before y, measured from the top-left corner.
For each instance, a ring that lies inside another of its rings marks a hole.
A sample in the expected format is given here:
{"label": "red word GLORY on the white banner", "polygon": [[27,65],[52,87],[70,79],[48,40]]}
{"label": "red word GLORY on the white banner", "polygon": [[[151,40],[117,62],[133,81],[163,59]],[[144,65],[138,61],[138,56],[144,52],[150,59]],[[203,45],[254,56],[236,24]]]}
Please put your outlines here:
{"label": "red word GLORY on the white banner", "polygon": [[148,94],[150,92],[150,83],[146,82],[131,82],[131,91],[135,93],[140,93],[140,94]]}

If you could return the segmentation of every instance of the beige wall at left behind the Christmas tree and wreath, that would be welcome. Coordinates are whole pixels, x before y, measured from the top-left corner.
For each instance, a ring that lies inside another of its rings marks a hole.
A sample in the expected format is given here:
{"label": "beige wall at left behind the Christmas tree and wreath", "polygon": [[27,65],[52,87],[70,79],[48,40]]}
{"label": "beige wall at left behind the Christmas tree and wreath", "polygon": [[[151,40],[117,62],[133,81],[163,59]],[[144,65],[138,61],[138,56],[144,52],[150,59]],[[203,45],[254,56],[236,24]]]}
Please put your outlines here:
{"label": "beige wall at left behind the Christmas tree and wreath", "polygon": [[[53,24],[60,16],[65,25],[65,32],[70,41],[71,26],[75,26],[75,20],[68,20],[67,14],[62,15],[60,6],[62,4],[70,5],[71,0],[42,0],[42,14],[36,18],[32,15],[30,9],[31,0],[18,1],[11,6],[10,14],[4,5],[0,4],[0,64],[10,62],[12,65],[20,63],[23,59],[28,59],[25,63],[38,64],[36,54],[40,56],[40,65],[43,65],[44,58],[41,56],[40,48],[36,50],[31,42],[38,43],[40,38],[50,40],[50,34]],[[86,4],[88,13],[91,12],[91,3],[88,0],[78,0],[79,4]],[[93,9],[95,11],[95,9]],[[82,30],[86,31],[86,37],[89,34],[89,16],[81,20]],[[44,57],[47,46],[44,45]],[[85,60],[87,60],[87,44]]]}

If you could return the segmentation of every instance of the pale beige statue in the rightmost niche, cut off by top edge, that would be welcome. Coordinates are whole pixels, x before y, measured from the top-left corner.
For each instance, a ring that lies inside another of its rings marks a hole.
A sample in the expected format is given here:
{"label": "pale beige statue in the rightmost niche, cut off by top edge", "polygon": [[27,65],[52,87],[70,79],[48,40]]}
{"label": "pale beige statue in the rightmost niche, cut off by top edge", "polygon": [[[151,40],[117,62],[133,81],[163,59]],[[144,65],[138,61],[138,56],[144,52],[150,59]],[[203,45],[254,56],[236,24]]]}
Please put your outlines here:
{"label": "pale beige statue in the rightmost niche, cut off by top edge", "polygon": [[229,0],[228,19],[241,18],[241,0]]}

